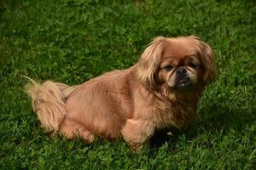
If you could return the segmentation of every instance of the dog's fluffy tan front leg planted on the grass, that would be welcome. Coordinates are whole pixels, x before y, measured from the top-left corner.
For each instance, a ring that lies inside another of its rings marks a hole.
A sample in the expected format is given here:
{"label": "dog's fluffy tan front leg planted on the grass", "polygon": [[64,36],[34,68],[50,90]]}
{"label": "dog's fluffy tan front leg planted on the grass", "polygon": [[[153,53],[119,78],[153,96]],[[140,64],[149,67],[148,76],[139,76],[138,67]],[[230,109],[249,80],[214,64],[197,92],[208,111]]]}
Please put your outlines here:
{"label": "dog's fluffy tan front leg planted on the grass", "polygon": [[128,119],[122,128],[122,135],[132,150],[140,150],[154,134],[154,123],[149,120]]}

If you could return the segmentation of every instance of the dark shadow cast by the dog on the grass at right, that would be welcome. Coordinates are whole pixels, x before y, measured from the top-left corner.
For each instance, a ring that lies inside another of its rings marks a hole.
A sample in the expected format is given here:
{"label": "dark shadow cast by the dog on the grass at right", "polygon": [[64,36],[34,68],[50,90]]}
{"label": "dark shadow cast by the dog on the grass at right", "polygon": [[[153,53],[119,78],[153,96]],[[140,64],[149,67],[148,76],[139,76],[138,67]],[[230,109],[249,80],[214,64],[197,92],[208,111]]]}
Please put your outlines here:
{"label": "dark shadow cast by the dog on the grass at right", "polygon": [[230,129],[243,131],[246,125],[250,126],[255,122],[256,111],[230,111],[225,108],[201,109],[199,116],[195,118],[189,127],[183,130],[176,128],[156,131],[150,140],[150,148],[157,150],[165,144],[175,144],[180,135],[186,139],[193,140],[201,133],[227,133]]}

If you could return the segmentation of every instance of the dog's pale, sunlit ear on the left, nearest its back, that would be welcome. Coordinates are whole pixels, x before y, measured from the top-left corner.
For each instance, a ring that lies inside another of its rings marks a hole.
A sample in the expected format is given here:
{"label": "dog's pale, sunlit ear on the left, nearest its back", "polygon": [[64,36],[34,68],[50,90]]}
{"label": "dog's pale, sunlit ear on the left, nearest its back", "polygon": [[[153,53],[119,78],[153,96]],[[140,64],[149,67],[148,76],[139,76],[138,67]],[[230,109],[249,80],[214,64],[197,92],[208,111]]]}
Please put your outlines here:
{"label": "dog's pale, sunlit ear on the left, nearest its back", "polygon": [[165,37],[154,38],[137,63],[137,77],[147,88],[154,89],[159,82],[158,71],[165,42]]}

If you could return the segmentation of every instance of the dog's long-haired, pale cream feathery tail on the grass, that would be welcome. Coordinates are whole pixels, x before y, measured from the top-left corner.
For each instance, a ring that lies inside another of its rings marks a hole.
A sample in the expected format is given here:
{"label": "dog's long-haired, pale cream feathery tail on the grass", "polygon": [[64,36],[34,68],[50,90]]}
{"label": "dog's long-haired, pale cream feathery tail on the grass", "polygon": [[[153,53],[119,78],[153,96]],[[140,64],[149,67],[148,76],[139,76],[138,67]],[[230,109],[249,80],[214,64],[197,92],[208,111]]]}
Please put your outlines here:
{"label": "dog's long-haired, pale cream feathery tail on the grass", "polygon": [[60,82],[46,81],[42,84],[29,77],[26,93],[32,97],[32,109],[37,114],[41,127],[48,133],[59,131],[61,122],[67,115],[65,101],[77,86],[69,87]]}

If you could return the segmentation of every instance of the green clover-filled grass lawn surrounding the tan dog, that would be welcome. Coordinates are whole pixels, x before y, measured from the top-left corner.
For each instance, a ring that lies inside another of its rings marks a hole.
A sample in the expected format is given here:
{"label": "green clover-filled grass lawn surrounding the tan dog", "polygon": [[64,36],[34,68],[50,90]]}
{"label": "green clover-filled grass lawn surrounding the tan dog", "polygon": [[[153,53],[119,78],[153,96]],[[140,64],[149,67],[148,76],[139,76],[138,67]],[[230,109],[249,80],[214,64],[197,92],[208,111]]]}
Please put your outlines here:
{"label": "green clover-filled grass lawn surrounding the tan dog", "polygon": [[[156,36],[211,45],[218,77],[199,116],[151,149],[123,139],[84,144],[39,127],[26,80],[73,85],[137,62]],[[244,1],[0,1],[1,169],[255,169],[256,3]]]}

